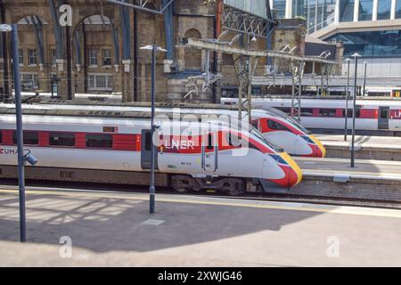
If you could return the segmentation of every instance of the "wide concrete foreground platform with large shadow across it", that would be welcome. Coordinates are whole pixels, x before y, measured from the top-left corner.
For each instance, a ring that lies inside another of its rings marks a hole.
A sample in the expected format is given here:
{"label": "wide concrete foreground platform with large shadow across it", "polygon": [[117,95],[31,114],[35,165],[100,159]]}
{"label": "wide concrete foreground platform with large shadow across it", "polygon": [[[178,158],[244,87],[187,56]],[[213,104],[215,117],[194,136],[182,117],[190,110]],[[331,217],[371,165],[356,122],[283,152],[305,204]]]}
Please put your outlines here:
{"label": "wide concrete foreground platform with large shadow across it", "polygon": [[29,188],[20,244],[18,207],[1,187],[1,266],[401,266],[399,210]]}

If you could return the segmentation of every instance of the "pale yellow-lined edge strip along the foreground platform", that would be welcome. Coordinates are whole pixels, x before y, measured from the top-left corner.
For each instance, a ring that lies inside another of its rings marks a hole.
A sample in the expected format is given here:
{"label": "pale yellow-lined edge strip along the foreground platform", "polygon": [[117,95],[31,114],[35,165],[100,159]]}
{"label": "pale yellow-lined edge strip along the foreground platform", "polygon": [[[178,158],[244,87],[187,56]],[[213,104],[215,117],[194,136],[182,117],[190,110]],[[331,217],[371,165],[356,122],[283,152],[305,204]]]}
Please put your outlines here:
{"label": "pale yellow-lined edge strip along the foreground platform", "polygon": [[[0,193],[12,193],[18,194],[17,190],[0,190]],[[122,194],[110,194],[100,193],[92,191],[36,191],[28,190],[28,195],[58,195],[58,196],[70,196],[70,197],[94,197],[94,198],[111,198],[111,199],[133,199],[147,201],[148,196],[143,194],[133,193],[122,193]],[[207,198],[205,199],[213,199]],[[304,204],[307,206],[298,205],[298,203],[291,203],[294,205],[289,206],[289,203],[283,202],[267,202],[267,201],[250,201],[249,203],[233,202],[227,199],[220,200],[200,200],[200,199],[170,199],[159,195],[157,198],[158,202],[166,203],[183,203],[183,204],[198,204],[198,205],[211,205],[211,206],[226,206],[226,207],[241,207],[241,208],[264,208],[264,209],[278,209],[278,210],[292,210],[292,211],[303,211],[303,212],[317,212],[317,213],[329,213],[329,214],[345,214],[345,215],[358,215],[358,216],[382,216],[382,217],[395,217],[401,218],[401,210],[397,209],[381,209],[381,208],[360,208],[360,207],[336,207],[328,205],[311,205]],[[29,203],[28,203],[29,206]]]}

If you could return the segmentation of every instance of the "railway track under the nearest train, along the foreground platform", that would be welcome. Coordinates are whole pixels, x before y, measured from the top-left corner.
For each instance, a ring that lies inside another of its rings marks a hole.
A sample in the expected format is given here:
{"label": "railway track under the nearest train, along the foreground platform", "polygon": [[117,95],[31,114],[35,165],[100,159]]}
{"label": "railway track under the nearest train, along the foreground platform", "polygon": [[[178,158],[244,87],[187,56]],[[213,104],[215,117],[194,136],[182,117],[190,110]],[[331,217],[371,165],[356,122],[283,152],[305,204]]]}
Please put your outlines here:
{"label": "railway track under the nearest train, along the foreground platform", "polygon": [[[16,186],[18,183],[12,179],[0,179],[1,187]],[[135,192],[135,193],[148,193],[147,186],[133,186],[124,184],[102,184],[102,183],[57,183],[45,181],[27,181],[27,188],[29,187],[42,187],[44,190],[64,190],[64,191],[100,191],[100,192]],[[158,187],[157,192],[160,194],[171,195],[192,195],[204,196],[213,198],[224,199],[244,199],[244,200],[260,200],[260,201],[273,201],[273,202],[287,202],[287,203],[308,203],[317,205],[331,205],[331,206],[348,206],[348,207],[365,207],[365,208],[389,208],[401,209],[401,201],[389,201],[378,199],[343,199],[324,196],[306,196],[306,195],[291,195],[279,193],[246,193],[241,196],[230,196],[220,194],[215,191],[192,191],[187,193],[178,193],[171,191],[168,187]]]}

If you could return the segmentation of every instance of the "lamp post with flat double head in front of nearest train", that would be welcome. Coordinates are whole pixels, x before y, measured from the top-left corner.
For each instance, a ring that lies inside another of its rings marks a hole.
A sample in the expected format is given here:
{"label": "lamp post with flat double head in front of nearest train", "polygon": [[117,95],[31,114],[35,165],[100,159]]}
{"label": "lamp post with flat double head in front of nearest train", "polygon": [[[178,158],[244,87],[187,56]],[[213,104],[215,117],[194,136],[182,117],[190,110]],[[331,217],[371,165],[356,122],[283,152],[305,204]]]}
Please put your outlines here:
{"label": "lamp post with flat double head in front of nearest train", "polygon": [[154,186],[154,159],[155,159],[155,147],[153,143],[153,134],[154,134],[154,113],[155,113],[155,80],[156,80],[156,53],[167,51],[160,46],[157,45],[146,45],[140,48],[141,50],[149,50],[151,51],[151,185],[149,187],[150,194],[150,205],[149,212],[154,214],[155,208],[155,194],[156,189]]}

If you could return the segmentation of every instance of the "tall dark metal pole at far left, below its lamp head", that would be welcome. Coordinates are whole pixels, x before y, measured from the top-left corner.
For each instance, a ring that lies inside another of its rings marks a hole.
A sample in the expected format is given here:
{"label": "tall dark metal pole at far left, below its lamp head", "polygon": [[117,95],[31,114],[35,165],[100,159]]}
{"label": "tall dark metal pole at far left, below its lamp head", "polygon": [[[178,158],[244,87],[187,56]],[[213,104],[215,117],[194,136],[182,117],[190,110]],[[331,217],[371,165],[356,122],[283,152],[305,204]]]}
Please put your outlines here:
{"label": "tall dark metal pole at far left, below its lamp head", "polygon": [[20,102],[20,64],[18,61],[18,29],[12,24],[12,65],[14,71],[15,113],[17,119],[18,183],[20,193],[20,242],[26,241],[25,221],[25,173],[22,132],[22,107]]}

